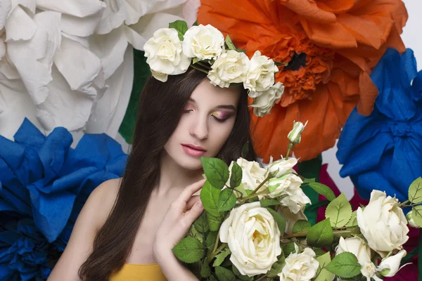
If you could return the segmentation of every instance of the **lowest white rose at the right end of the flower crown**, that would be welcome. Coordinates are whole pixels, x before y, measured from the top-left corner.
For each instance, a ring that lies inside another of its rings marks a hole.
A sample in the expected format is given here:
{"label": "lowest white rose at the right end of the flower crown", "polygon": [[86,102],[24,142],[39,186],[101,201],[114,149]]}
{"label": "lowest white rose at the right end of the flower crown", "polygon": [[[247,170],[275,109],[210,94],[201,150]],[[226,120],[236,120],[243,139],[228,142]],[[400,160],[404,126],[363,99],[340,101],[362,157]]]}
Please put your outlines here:
{"label": "lowest white rose at the right end of the flower crown", "polygon": [[277,82],[273,86],[269,87],[267,91],[259,93],[250,91],[248,94],[250,97],[257,97],[253,99],[253,103],[250,105],[250,107],[254,107],[253,113],[258,117],[263,117],[264,115],[269,114],[271,108],[274,106],[274,103],[281,98],[283,92],[284,86],[281,82]]}

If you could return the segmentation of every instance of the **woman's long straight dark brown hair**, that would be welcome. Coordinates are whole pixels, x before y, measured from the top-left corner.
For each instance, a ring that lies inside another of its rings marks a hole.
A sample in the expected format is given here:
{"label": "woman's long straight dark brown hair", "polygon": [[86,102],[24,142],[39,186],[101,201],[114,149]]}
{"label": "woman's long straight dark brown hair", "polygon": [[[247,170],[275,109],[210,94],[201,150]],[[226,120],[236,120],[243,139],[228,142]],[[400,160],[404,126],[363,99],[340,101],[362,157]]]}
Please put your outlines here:
{"label": "woman's long straight dark brown hair", "polygon": [[[120,189],[106,223],[95,237],[91,255],[79,268],[82,280],[109,280],[124,265],[160,176],[160,154],[176,129],[189,96],[204,79],[206,75],[198,71],[170,75],[165,83],[148,78],[139,99],[132,152]],[[243,88],[241,91],[234,129],[217,155],[227,164],[241,157],[245,143],[249,143],[246,158],[256,159],[250,137],[248,96]]]}

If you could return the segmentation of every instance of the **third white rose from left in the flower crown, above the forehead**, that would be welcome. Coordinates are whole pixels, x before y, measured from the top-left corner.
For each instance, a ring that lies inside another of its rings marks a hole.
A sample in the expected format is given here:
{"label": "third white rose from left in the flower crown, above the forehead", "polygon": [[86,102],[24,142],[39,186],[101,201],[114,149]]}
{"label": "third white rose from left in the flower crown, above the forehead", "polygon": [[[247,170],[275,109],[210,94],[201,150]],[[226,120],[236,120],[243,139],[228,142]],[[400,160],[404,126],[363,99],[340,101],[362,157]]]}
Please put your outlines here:
{"label": "third white rose from left in the flower crown, above the forehead", "polygon": [[214,86],[228,88],[231,83],[245,81],[249,68],[249,58],[244,53],[229,50],[222,53],[211,66],[208,78]]}

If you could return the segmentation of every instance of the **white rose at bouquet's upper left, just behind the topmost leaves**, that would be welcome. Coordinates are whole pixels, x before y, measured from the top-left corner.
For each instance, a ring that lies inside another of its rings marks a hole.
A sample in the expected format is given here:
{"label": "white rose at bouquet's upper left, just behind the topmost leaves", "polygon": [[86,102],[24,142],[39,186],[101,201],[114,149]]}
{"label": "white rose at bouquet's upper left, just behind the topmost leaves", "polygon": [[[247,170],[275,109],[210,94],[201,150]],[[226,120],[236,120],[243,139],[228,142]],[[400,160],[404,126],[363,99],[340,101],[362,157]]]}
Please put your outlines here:
{"label": "white rose at bouquet's upper left, just behind the topmost leaves", "polygon": [[[242,168],[242,185],[245,190],[255,190],[265,180],[267,170],[262,168],[258,162],[238,158],[236,163]],[[229,171],[232,167],[233,162],[229,166]],[[263,186],[267,187],[267,185],[268,183],[265,183]],[[232,188],[236,188],[236,186],[232,186]]]}

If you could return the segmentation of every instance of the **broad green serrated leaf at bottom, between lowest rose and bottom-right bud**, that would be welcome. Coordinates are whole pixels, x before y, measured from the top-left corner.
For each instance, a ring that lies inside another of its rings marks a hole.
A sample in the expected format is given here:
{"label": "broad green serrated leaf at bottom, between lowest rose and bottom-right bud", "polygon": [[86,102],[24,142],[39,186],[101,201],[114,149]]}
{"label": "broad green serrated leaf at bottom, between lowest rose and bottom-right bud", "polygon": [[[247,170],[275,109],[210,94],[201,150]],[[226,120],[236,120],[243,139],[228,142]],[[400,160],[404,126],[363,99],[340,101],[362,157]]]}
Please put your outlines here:
{"label": "broad green serrated leaf at bottom, between lowest rose and bottom-right bud", "polygon": [[338,277],[351,278],[360,273],[361,265],[354,254],[344,252],[335,256],[333,261],[326,266],[326,270]]}

